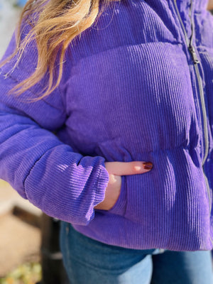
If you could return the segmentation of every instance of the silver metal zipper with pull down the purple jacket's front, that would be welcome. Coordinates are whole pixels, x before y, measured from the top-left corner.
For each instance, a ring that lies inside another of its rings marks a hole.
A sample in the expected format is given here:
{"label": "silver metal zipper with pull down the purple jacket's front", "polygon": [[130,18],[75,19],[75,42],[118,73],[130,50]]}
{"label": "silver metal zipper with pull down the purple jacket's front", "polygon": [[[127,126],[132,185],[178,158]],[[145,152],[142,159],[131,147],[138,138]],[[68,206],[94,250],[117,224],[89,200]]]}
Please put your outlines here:
{"label": "silver metal zipper with pull down the purple jacket's front", "polygon": [[[178,19],[180,21],[180,25],[182,26],[182,31],[185,35],[185,41],[187,43],[187,48],[190,51],[190,55],[192,56],[192,60],[194,62],[194,66],[195,66],[195,74],[197,77],[197,83],[199,86],[199,93],[200,93],[200,102],[201,102],[201,107],[202,107],[202,119],[203,119],[203,131],[204,131],[204,145],[203,145],[203,153],[204,153],[204,158],[202,160],[202,171],[203,171],[203,175],[204,175],[204,180],[206,182],[206,186],[207,186],[207,194],[209,197],[209,214],[211,214],[212,211],[212,202],[211,202],[211,194],[210,194],[210,188],[209,188],[209,182],[207,180],[207,176],[204,173],[204,163],[207,160],[207,156],[208,156],[208,151],[209,151],[209,136],[208,136],[208,129],[207,129],[207,111],[206,111],[206,107],[205,107],[205,102],[204,102],[204,92],[202,89],[202,79],[200,77],[200,71],[198,68],[198,64],[200,64],[200,61],[197,58],[196,52],[195,52],[195,48],[192,45],[192,39],[193,39],[193,35],[194,35],[194,21],[192,20],[192,0],[190,0],[190,21],[191,21],[191,29],[192,29],[192,35],[190,37],[190,39],[187,37],[187,32],[185,30],[185,26],[182,22],[182,18],[180,16],[180,12],[178,10],[178,6],[177,6],[177,0],[174,0],[174,4],[175,4],[175,10],[176,13],[178,14]],[[212,241],[212,240],[211,240]],[[212,241],[213,243],[213,241]]]}

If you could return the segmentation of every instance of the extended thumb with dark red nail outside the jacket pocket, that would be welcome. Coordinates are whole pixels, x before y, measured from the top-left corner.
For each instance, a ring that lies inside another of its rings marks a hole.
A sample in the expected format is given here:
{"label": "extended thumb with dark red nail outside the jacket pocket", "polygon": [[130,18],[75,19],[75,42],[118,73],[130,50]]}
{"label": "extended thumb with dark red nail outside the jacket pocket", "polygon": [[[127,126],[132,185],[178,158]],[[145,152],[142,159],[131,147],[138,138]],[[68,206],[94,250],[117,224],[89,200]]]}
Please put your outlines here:
{"label": "extended thumb with dark red nail outside the jacket pocket", "polygon": [[107,162],[105,167],[109,174],[113,175],[136,175],[140,173],[147,173],[153,168],[151,162]]}

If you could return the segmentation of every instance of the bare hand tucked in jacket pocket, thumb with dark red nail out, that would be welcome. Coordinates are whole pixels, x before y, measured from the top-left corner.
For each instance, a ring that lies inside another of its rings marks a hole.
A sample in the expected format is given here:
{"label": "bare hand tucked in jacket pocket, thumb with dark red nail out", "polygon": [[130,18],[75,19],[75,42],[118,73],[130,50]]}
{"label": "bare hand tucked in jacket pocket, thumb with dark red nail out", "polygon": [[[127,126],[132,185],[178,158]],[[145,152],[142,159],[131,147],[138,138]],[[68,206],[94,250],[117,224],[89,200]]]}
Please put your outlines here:
{"label": "bare hand tucked in jacket pocket, thumb with dark red nail out", "polygon": [[104,200],[97,204],[94,209],[109,210],[114,207],[121,192],[121,175],[138,175],[147,173],[153,168],[150,162],[107,162],[105,167],[109,173],[109,182]]}

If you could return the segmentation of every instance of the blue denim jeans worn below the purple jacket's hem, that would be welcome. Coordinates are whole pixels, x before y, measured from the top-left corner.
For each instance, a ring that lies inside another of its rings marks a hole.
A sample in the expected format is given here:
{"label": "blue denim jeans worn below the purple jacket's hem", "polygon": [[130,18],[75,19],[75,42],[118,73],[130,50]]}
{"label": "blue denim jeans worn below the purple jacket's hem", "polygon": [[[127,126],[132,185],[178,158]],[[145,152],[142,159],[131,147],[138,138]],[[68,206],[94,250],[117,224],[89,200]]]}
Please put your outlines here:
{"label": "blue denim jeans worn below the purple jacket's hem", "polygon": [[209,251],[124,249],[61,222],[60,248],[70,284],[212,284]]}

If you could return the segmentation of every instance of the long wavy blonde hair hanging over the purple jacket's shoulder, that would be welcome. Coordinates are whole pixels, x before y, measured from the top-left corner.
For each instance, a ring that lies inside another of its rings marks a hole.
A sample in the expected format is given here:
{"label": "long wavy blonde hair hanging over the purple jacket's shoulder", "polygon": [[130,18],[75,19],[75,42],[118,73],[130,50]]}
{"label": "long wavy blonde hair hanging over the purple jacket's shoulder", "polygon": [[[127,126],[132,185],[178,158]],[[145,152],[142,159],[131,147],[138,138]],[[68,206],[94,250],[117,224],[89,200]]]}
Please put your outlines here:
{"label": "long wavy blonde hair hanging over the purple jacket's shoulder", "polygon": [[[35,72],[22,82],[16,84],[11,92],[19,95],[40,82],[48,72],[48,84],[38,97],[48,96],[58,87],[62,78],[63,60],[65,51],[71,41],[87,28],[92,26],[109,2],[103,0],[102,11],[99,11],[100,0],[28,0],[21,13],[16,34],[16,50],[6,58],[1,66],[18,55],[16,64],[23,55],[23,51],[35,40],[38,49],[38,62]],[[31,26],[31,30],[21,40],[21,27],[23,23]],[[55,80],[55,63],[59,58],[57,80]],[[35,99],[37,100],[37,99]]]}

